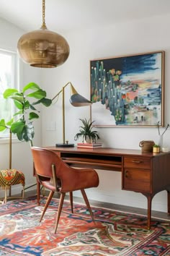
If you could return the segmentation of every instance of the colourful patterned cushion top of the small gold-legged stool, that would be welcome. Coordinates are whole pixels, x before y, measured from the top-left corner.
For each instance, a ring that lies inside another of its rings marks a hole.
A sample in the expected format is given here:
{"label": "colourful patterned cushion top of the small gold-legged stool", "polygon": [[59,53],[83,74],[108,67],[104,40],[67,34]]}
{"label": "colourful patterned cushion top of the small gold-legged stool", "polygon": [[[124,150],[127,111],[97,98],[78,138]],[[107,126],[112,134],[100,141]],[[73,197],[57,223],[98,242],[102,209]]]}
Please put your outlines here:
{"label": "colourful patterned cushion top of the small gold-legged stool", "polygon": [[24,174],[16,169],[6,169],[0,171],[0,187],[11,187],[22,184],[24,186]]}

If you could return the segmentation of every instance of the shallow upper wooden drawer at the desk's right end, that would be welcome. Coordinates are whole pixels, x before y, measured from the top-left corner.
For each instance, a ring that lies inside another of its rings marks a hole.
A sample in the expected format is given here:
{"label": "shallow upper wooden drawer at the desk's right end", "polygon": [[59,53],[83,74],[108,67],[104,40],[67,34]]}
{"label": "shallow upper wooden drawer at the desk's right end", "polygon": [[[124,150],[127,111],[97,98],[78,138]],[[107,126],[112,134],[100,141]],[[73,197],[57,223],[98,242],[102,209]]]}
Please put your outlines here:
{"label": "shallow upper wooden drawer at the desk's right end", "polygon": [[143,157],[124,157],[124,167],[132,168],[150,168],[150,158]]}

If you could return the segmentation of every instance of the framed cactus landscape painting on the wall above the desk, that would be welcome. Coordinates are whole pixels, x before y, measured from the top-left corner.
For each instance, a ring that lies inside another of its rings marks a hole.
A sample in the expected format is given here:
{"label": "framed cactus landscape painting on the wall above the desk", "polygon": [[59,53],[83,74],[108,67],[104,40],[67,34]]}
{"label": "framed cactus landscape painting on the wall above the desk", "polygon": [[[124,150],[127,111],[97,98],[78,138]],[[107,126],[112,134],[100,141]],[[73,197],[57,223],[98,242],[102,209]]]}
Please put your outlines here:
{"label": "framed cactus landscape painting on the wall above the desk", "polygon": [[165,51],[90,60],[94,127],[164,127]]}

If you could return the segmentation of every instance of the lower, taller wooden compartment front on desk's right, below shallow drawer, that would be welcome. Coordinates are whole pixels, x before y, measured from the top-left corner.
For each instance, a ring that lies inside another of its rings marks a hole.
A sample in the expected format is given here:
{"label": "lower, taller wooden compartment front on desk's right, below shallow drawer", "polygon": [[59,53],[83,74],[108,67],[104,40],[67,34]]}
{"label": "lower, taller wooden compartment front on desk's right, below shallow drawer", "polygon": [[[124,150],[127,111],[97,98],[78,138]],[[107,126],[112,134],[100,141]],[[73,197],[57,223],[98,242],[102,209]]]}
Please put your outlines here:
{"label": "lower, taller wooden compartment front on desk's right, below shallow drawer", "polygon": [[122,189],[135,192],[150,192],[151,173],[148,169],[125,168],[123,171]]}

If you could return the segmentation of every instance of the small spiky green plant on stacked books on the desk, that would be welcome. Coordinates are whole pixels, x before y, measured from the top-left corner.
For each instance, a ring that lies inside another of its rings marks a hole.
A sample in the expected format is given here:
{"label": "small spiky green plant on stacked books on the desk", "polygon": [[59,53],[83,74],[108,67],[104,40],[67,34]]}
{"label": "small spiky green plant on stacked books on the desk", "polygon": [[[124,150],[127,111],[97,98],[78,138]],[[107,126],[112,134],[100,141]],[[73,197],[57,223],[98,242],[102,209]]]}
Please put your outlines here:
{"label": "small spiky green plant on stacked books on the desk", "polygon": [[92,131],[94,121],[87,121],[86,119],[80,119],[80,121],[83,123],[83,126],[81,126],[80,131],[75,135],[74,140],[79,140],[79,137],[83,137],[84,143],[96,143],[96,140],[99,139],[99,135],[97,134],[97,131]]}

